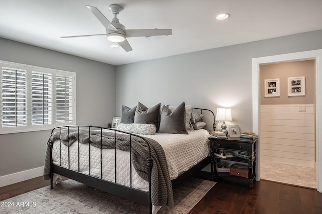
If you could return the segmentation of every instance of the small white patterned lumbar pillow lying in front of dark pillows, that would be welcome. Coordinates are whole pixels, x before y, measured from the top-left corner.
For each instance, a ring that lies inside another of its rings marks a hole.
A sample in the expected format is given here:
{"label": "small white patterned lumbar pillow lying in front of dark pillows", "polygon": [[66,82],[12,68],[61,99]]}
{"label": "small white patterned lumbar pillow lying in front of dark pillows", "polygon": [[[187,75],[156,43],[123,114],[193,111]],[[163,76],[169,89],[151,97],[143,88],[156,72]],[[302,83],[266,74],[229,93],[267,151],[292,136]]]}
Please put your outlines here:
{"label": "small white patterned lumbar pillow lying in front of dark pillows", "polygon": [[126,131],[135,134],[145,134],[145,135],[153,135],[156,132],[156,127],[153,124],[143,124],[143,123],[131,123],[125,124],[120,123],[117,126],[118,130]]}

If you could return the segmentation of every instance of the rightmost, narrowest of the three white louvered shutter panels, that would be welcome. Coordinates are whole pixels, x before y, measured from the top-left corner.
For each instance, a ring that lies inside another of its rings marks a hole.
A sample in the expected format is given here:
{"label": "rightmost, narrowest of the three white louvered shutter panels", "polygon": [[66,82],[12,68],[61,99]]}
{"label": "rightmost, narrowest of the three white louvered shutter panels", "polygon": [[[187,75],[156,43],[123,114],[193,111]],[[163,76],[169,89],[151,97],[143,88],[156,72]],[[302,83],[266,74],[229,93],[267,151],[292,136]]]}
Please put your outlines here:
{"label": "rightmost, narrowest of the three white louvered shutter panels", "polygon": [[73,122],[73,77],[56,75],[56,123]]}

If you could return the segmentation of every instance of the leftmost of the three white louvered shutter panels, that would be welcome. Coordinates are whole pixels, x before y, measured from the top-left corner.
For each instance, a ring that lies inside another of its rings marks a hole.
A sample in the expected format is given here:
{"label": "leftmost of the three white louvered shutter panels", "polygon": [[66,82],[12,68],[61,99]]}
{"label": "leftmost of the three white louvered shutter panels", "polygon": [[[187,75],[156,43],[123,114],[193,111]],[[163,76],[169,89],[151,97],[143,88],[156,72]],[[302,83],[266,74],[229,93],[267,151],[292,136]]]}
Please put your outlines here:
{"label": "leftmost of the three white louvered shutter panels", "polygon": [[27,126],[27,70],[2,66],[2,127]]}

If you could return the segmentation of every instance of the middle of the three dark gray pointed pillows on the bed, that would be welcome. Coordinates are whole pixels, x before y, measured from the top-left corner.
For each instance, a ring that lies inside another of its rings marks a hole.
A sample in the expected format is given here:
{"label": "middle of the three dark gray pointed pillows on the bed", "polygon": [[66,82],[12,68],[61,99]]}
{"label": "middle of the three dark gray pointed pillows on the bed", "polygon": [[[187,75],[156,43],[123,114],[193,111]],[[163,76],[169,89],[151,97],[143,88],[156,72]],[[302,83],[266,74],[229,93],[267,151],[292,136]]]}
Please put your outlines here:
{"label": "middle of the three dark gray pointed pillows on the bed", "polygon": [[142,103],[138,102],[134,115],[134,123],[153,124],[158,130],[160,103],[151,108],[147,108]]}

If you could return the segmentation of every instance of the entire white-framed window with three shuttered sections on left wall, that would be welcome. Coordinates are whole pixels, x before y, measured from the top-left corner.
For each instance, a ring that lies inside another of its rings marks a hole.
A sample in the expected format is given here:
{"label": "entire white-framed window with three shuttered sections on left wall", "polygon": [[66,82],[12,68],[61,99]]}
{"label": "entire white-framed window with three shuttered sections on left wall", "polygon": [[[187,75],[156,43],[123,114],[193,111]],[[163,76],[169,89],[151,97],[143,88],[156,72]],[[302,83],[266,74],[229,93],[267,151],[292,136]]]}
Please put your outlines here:
{"label": "entire white-framed window with three shuttered sections on left wall", "polygon": [[0,61],[1,133],[75,124],[75,73]]}

